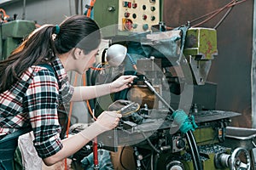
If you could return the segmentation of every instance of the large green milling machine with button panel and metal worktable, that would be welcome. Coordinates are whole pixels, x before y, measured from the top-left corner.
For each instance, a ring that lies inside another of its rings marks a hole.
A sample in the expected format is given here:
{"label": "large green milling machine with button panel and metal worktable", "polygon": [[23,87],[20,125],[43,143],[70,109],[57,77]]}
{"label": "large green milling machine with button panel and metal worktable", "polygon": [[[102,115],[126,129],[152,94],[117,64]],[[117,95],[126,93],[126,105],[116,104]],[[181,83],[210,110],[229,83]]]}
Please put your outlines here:
{"label": "large green milling machine with button panel and metal worktable", "polygon": [[[225,144],[230,119],[240,114],[216,111],[217,84],[207,82],[218,54],[216,30],[189,26],[168,30],[160,21],[161,5],[162,1],[108,0],[94,6],[95,20],[109,42],[102,54],[103,64],[97,67],[104,68],[109,62],[108,50],[115,45],[127,51],[124,59],[119,59],[122,64],[92,71],[91,84],[112,82],[125,74],[138,78],[130,89],[98,98],[91,105],[96,115],[119,99],[140,105],[139,111],[123,117],[117,128],[100,135],[98,143],[112,151],[131,146],[136,169],[254,168],[252,148]],[[195,122],[193,133],[183,133],[173,119],[173,111],[180,110],[188,114],[189,122]]]}

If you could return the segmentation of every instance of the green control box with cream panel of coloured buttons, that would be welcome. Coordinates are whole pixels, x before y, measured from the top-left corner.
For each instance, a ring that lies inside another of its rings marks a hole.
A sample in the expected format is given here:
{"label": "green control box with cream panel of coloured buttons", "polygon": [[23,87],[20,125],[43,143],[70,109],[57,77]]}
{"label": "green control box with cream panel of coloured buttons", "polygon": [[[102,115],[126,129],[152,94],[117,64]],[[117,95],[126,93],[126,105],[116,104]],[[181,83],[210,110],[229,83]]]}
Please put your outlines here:
{"label": "green control box with cream panel of coloured buttons", "polygon": [[97,0],[94,20],[103,37],[129,36],[151,31],[162,20],[163,0]]}

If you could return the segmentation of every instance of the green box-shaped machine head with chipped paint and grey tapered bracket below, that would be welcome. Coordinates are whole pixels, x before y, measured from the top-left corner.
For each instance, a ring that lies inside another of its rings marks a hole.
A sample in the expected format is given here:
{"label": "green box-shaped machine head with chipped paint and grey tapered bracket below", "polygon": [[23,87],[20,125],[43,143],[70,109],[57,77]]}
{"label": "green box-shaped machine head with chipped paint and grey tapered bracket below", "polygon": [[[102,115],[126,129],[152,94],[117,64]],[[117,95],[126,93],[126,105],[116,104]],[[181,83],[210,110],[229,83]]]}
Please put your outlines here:
{"label": "green box-shaped machine head with chipped paint and grey tapered bracket below", "polygon": [[189,61],[194,83],[204,85],[212,60],[218,54],[217,31],[212,28],[189,28],[183,54]]}

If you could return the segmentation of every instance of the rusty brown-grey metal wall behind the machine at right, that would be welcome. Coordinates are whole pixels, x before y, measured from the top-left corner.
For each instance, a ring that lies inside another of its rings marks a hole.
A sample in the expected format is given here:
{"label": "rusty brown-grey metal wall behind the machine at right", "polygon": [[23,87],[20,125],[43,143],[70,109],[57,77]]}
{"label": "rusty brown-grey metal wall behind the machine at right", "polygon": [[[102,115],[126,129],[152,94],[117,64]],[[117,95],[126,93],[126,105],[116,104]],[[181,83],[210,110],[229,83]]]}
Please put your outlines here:
{"label": "rusty brown-grey metal wall behind the machine at right", "polygon": [[[166,26],[182,26],[189,20],[223,7],[228,0],[164,2],[163,20]],[[216,26],[227,10],[205,23]],[[195,23],[191,23],[193,26]],[[216,109],[236,111],[241,116],[232,125],[251,127],[251,59],[253,37],[253,0],[237,4],[217,28],[218,56],[212,61],[208,82],[218,84]]]}

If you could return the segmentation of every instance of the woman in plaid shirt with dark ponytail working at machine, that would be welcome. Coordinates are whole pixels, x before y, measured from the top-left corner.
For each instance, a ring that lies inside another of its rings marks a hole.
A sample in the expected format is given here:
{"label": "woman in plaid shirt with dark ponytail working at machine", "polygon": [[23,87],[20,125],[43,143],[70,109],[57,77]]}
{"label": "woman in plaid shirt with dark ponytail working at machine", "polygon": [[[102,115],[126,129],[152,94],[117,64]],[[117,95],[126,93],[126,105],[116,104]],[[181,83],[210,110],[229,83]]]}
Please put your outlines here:
{"label": "woman in plaid shirt with dark ponytail working at machine", "polygon": [[67,71],[87,71],[96,61],[100,42],[96,22],[74,15],[60,26],[41,26],[8,59],[0,61],[0,169],[11,169],[22,133],[33,132],[38,156],[52,165],[118,125],[120,114],[103,111],[90,127],[70,138],[60,138],[59,105],[119,92],[133,81],[132,76],[122,76],[108,84],[70,85]]}

